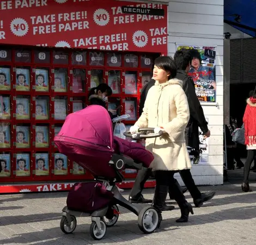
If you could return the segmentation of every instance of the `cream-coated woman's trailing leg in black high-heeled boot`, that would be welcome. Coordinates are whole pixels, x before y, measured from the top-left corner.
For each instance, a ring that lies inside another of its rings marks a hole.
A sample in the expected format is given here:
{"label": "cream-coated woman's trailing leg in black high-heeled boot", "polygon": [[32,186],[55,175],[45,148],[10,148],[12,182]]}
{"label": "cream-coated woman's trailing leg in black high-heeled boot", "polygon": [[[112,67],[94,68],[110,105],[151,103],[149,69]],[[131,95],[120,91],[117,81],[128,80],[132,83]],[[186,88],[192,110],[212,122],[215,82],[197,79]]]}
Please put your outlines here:
{"label": "cream-coated woman's trailing leg in black high-heeled boot", "polygon": [[188,221],[188,215],[192,213],[193,215],[193,208],[191,204],[189,204],[180,190],[180,188],[175,184],[175,179],[174,179],[174,172],[169,171],[169,188],[172,188],[172,193],[174,195],[175,201],[178,203],[180,207],[180,212],[181,212],[181,217],[176,220],[177,223],[183,223]]}

